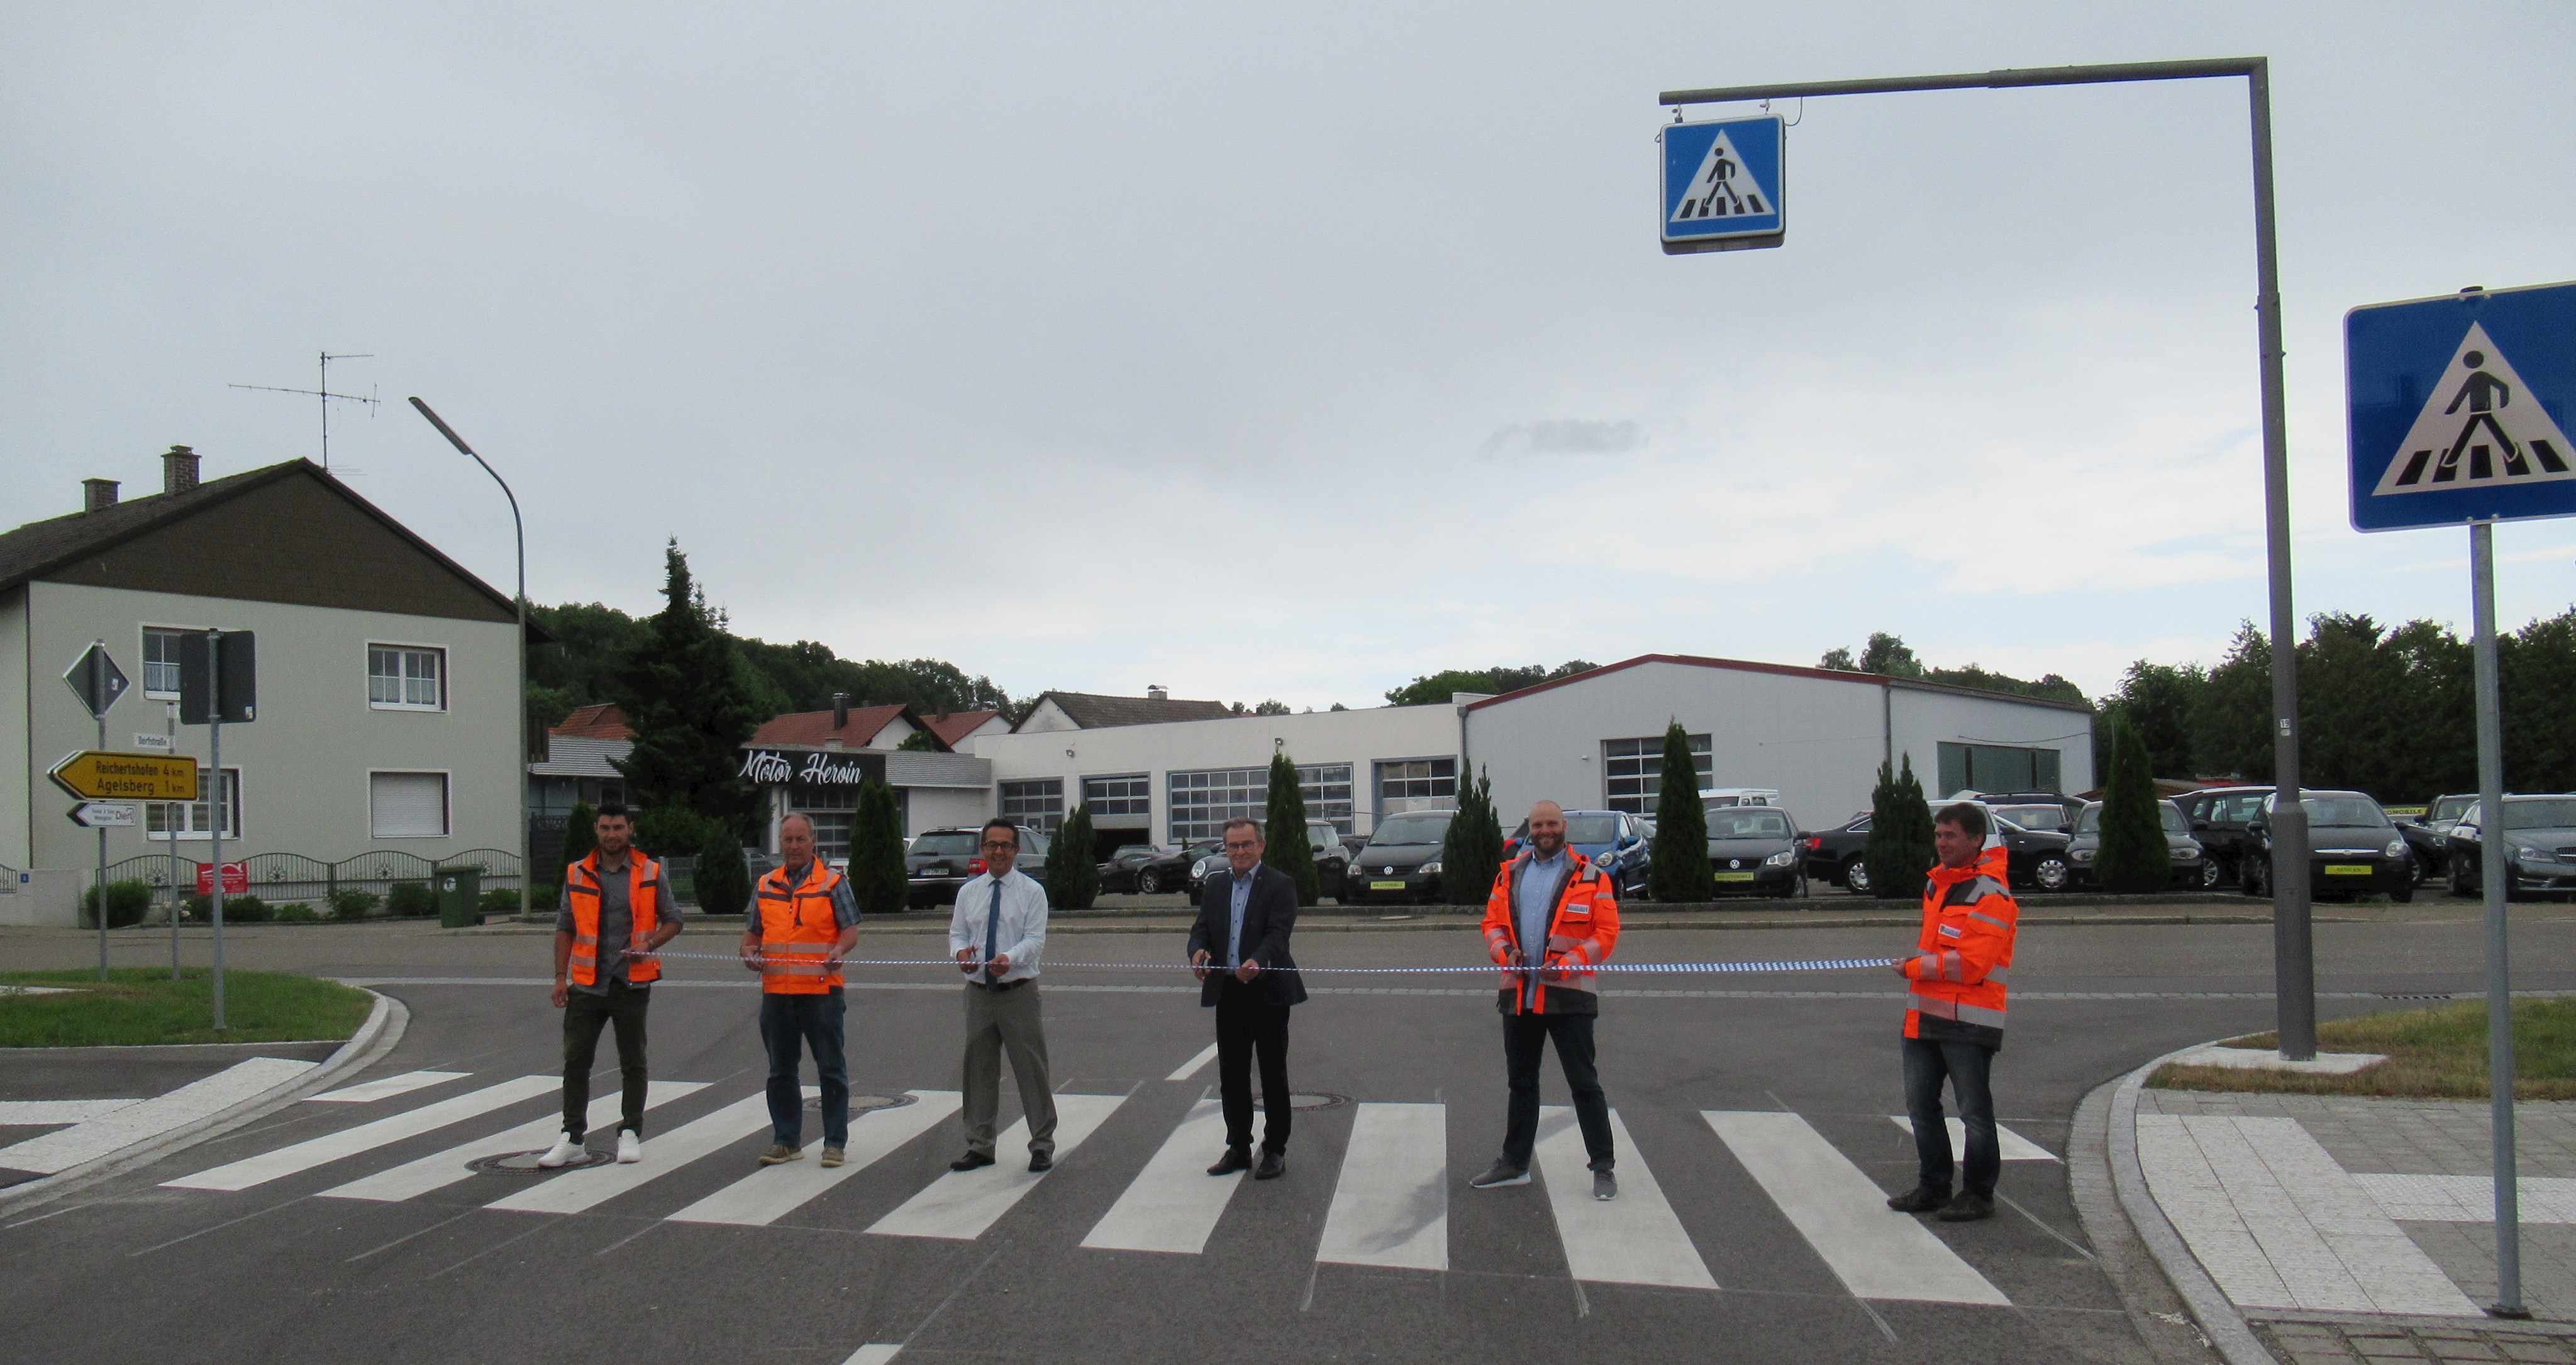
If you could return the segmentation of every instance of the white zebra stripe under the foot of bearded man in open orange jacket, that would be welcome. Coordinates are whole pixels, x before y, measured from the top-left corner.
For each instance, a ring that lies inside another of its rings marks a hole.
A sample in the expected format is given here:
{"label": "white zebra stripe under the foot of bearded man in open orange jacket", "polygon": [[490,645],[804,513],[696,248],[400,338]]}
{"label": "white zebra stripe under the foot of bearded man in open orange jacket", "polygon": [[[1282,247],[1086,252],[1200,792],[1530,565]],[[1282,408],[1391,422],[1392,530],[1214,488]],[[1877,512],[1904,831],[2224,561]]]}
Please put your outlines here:
{"label": "white zebra stripe under the foot of bearded man in open orange jacket", "polygon": [[1646,1159],[1628,1138],[1618,1110],[1610,1110],[1610,1144],[1620,1154],[1618,1198],[1600,1203],[1592,1198],[1592,1159],[1584,1151],[1574,1110],[1564,1105],[1538,1110],[1533,1156],[1538,1177],[1548,1187],[1548,1208],[1556,1210],[1556,1239],[1566,1249],[1566,1270],[1577,1280],[1602,1285],[1718,1288],[1718,1277],[1708,1272],[1700,1249],[1682,1231],[1682,1218],[1664,1203],[1664,1187],[1646,1169]]}

